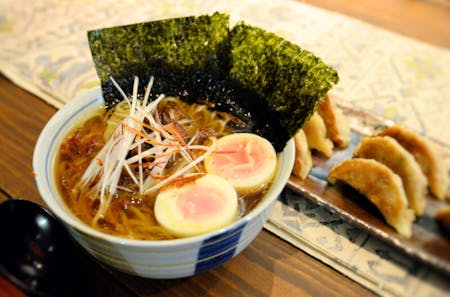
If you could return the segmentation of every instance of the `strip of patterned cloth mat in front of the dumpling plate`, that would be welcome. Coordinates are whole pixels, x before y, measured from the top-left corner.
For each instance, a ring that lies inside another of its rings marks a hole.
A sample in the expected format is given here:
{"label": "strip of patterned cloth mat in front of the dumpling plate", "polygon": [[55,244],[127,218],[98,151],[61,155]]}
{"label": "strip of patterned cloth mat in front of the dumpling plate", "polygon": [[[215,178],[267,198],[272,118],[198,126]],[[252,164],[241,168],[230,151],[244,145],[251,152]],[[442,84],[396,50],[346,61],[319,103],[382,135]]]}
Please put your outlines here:
{"label": "strip of patterned cloth mat in front of the dumpling plate", "polygon": [[285,190],[265,225],[381,296],[447,296],[448,277]]}

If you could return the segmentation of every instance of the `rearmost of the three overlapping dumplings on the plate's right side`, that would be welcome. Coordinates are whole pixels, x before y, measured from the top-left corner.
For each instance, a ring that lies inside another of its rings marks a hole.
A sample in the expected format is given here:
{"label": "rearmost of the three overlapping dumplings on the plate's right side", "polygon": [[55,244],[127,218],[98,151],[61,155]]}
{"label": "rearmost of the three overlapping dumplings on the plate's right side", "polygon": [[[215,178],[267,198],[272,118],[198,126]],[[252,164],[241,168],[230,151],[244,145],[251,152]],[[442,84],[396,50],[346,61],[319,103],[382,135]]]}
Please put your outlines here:
{"label": "rearmost of the three overlapping dumplings on the plate's right side", "polygon": [[443,162],[433,151],[431,144],[423,137],[399,125],[391,126],[378,133],[380,136],[395,138],[419,163],[428,179],[431,193],[444,199],[448,189],[448,173]]}

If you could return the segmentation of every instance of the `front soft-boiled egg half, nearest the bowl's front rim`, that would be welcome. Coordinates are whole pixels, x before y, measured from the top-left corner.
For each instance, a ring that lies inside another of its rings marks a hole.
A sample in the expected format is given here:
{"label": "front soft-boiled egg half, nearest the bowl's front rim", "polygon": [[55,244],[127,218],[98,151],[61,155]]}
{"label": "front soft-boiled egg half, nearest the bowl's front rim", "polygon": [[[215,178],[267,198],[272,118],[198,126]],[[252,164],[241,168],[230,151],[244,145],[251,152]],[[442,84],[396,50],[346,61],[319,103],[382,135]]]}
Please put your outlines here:
{"label": "front soft-boiled egg half, nearest the bowl's front rim", "polygon": [[155,217],[174,235],[185,237],[220,229],[238,213],[238,194],[225,179],[206,174],[160,191]]}

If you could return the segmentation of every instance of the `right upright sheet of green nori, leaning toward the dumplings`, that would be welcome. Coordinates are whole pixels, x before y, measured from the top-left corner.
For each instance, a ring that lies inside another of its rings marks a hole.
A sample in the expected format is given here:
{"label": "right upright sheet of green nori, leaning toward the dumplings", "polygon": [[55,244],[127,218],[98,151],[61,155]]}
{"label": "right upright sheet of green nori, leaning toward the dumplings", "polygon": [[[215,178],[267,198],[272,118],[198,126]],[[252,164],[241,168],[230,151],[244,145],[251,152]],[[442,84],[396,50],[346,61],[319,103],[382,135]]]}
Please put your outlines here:
{"label": "right upright sheet of green nori, leaning toward the dumplings", "polygon": [[231,64],[230,78],[264,98],[290,136],[339,80],[311,52],[244,23],[231,31]]}

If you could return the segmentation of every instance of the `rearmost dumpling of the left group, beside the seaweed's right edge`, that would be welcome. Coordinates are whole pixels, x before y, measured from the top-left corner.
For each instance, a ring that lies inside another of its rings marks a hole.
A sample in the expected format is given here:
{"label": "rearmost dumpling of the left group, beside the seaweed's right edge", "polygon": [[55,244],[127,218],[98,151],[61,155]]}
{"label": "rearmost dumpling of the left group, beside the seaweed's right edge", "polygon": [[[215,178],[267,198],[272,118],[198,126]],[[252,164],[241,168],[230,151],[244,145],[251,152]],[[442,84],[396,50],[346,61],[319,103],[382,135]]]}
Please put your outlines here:
{"label": "rearmost dumpling of the left group, beside the seaweed's right edge", "polygon": [[330,94],[319,104],[317,111],[327,129],[327,136],[339,147],[347,147],[350,143],[350,125],[342,110],[336,106]]}

